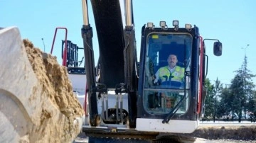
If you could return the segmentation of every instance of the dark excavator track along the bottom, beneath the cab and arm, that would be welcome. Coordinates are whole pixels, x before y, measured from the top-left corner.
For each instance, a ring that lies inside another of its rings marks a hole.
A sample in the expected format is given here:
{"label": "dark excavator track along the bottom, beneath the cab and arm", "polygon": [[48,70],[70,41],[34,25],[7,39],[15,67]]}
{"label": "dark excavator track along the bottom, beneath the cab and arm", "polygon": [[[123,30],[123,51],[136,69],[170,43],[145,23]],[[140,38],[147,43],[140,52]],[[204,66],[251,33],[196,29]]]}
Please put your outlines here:
{"label": "dark excavator track along the bottom, beneath the cab and arm", "polygon": [[[111,133],[111,136],[110,136]],[[138,132],[136,130],[118,131],[108,130],[86,130],[85,135],[89,142],[151,142],[151,143],[188,143],[195,142],[196,137],[178,134],[162,134],[159,132]]]}

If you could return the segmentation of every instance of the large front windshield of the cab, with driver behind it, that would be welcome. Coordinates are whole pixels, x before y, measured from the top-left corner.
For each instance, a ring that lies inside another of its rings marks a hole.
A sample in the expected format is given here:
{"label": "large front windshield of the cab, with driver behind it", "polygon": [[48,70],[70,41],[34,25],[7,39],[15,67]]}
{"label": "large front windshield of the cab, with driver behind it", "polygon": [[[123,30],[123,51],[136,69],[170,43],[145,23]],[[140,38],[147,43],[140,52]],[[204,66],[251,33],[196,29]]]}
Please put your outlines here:
{"label": "large front windshield of the cab, with driver behind it", "polygon": [[144,108],[169,113],[186,96],[177,113],[186,113],[190,93],[192,36],[187,33],[151,33],[147,36]]}

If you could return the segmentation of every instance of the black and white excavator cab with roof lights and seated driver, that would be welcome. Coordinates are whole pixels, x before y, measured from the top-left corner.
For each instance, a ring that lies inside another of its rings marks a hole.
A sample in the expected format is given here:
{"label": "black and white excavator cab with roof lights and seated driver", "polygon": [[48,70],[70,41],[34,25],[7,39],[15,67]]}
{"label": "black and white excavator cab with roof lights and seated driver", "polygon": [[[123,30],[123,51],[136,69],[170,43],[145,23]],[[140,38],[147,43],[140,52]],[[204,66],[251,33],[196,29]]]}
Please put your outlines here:
{"label": "black and white excavator cab with roof lights and seated driver", "polygon": [[142,28],[137,130],[190,133],[198,127],[205,46],[196,26],[173,24]]}

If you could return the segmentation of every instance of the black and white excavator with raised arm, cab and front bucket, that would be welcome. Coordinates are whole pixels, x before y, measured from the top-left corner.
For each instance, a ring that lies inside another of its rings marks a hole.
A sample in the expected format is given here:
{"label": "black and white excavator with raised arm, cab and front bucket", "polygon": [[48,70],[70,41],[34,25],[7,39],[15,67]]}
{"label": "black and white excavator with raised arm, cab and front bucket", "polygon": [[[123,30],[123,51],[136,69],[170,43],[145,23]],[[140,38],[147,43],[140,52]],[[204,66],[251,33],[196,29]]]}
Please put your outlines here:
{"label": "black and white excavator with raised arm, cab and front bucket", "polygon": [[[166,21],[159,21],[159,25],[149,22],[141,29],[138,60],[132,0],[91,0],[91,5],[100,52],[97,66],[87,0],[82,0],[83,48],[74,46],[67,39],[62,47],[63,66],[67,67],[73,91],[85,111],[83,117],[74,120],[74,125],[82,128],[89,142],[170,142],[169,138],[163,140],[161,134],[194,132],[203,117],[206,98],[204,80],[208,73],[208,56],[205,40],[215,41],[213,53],[216,56],[222,55],[222,43],[217,39],[203,39],[196,25],[181,26],[179,21],[172,21],[172,26],[168,27],[169,22]],[[24,51],[10,41],[10,37],[16,38],[14,35],[17,33],[16,28],[1,29],[1,55],[8,55],[9,50],[2,47],[9,43],[16,53],[11,55],[13,58],[24,56]],[[77,56],[80,49],[85,59],[83,67],[78,66],[82,62],[78,61]],[[156,73],[168,65],[169,55],[176,55],[176,68],[183,72],[178,74],[170,71],[158,79]],[[21,59],[23,64],[8,65],[18,69],[25,66],[26,70],[1,70],[1,80],[3,77],[12,78],[13,81],[19,79],[17,82],[21,86],[0,84],[0,117],[1,120],[9,120],[7,125],[0,124],[0,127],[9,128],[10,133],[14,130],[10,127],[16,127],[18,122],[14,118],[22,117],[19,118],[20,122],[28,122],[16,129],[17,136],[26,135],[21,128],[32,127],[29,122],[33,121],[33,110],[41,108],[36,103],[28,104],[31,98],[26,95],[33,92],[36,79],[27,59]],[[1,59],[1,67],[8,67],[6,63],[6,59]],[[14,74],[6,76],[7,72]],[[182,77],[181,82],[175,80],[176,74]],[[23,84],[23,81],[28,82]],[[50,105],[48,102],[46,106]],[[21,115],[9,115],[8,108],[3,108],[8,104],[15,106],[16,113]],[[58,112],[53,117],[61,115]]]}

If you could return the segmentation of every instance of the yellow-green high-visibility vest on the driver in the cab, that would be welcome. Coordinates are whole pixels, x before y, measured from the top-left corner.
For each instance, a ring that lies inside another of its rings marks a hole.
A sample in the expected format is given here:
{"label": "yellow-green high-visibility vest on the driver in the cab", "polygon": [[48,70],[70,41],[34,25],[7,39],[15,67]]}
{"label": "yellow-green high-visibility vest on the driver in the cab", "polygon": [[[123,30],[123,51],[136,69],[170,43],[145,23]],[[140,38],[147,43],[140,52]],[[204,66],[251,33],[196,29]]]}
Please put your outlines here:
{"label": "yellow-green high-visibility vest on the driver in the cab", "polygon": [[184,71],[184,68],[176,66],[175,70],[171,73],[168,66],[161,67],[159,69],[159,78],[161,79],[161,82],[164,82],[169,81],[170,76],[174,76],[171,78],[171,81],[182,82],[184,81]]}

